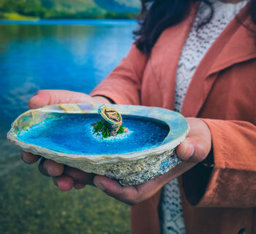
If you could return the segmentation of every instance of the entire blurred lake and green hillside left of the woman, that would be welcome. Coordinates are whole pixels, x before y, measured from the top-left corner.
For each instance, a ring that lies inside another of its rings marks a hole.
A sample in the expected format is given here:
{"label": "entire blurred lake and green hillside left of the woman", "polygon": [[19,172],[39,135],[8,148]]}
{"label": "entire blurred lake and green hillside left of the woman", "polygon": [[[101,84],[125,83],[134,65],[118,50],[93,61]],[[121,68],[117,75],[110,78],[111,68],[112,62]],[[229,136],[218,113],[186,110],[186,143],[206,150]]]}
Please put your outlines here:
{"label": "entire blurred lake and green hillside left of the woman", "polygon": [[0,233],[130,233],[129,207],[60,192],[6,140],[37,90],[89,93],[132,44],[139,0],[0,0]]}

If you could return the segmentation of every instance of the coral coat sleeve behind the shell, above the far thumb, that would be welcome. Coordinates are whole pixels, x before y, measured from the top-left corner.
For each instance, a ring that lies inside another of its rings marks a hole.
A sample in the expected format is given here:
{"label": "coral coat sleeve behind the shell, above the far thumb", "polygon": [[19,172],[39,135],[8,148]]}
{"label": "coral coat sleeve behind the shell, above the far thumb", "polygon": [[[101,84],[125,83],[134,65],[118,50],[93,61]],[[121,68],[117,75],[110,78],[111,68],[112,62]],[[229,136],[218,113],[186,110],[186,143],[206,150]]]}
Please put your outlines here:
{"label": "coral coat sleeve behind the shell, above the far thumb", "polygon": [[115,104],[140,104],[140,87],[143,71],[147,62],[135,44],[126,58],[106,77],[91,94],[110,98]]}

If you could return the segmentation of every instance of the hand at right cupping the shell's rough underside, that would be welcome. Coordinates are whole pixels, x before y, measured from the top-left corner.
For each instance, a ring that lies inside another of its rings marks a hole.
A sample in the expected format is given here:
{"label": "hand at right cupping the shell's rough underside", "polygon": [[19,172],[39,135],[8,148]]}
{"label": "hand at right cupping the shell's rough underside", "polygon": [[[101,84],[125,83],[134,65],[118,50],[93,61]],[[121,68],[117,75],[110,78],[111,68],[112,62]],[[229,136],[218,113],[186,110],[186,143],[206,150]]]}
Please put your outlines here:
{"label": "hand at right cupping the shell's rough underside", "polygon": [[178,157],[184,161],[175,168],[145,184],[128,187],[123,187],[108,177],[95,176],[95,186],[128,205],[135,205],[150,198],[172,179],[203,161],[211,150],[211,132],[208,125],[197,118],[187,118],[187,122],[190,126],[189,133],[176,150]]}

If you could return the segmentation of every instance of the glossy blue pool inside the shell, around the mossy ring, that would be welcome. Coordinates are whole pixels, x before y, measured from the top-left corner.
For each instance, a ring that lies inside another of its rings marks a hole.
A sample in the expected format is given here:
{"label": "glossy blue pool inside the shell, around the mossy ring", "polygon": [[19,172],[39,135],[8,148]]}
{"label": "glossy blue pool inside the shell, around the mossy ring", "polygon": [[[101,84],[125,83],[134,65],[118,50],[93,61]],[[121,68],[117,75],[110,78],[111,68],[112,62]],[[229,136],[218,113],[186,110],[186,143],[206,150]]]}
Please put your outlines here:
{"label": "glossy blue pool inside the shell, around the mossy ring", "polygon": [[46,119],[18,134],[18,140],[78,155],[110,155],[138,152],[159,146],[169,127],[159,121],[131,116],[123,117],[129,133],[102,139],[92,133],[91,123],[101,119],[98,114],[64,114]]}

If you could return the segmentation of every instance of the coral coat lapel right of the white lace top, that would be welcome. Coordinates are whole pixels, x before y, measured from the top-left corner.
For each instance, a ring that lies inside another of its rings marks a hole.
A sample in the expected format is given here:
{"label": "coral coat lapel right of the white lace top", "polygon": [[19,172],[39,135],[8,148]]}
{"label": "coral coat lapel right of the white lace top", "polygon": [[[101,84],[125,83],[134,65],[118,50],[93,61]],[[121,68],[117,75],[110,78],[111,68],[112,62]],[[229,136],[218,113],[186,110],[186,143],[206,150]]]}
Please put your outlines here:
{"label": "coral coat lapel right of the white lace top", "polygon": [[185,117],[197,117],[219,71],[256,58],[255,35],[249,35],[249,30],[242,25],[251,23],[247,7],[241,10],[238,19],[241,22],[234,18],[197,66],[182,106],[181,114]]}

